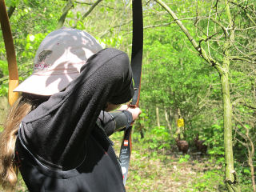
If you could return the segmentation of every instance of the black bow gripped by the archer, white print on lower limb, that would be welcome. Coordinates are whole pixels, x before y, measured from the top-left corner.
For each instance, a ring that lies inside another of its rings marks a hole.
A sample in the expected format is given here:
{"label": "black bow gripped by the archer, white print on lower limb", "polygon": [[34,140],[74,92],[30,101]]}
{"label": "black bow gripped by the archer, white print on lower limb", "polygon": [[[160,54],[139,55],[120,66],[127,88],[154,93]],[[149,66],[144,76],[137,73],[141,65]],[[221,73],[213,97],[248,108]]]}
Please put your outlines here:
{"label": "black bow gripped by the archer, white print on lower limb", "polygon": [[[142,74],[142,50],[143,50],[143,16],[142,16],[142,0],[133,0],[133,46],[131,54],[131,69],[134,78],[134,97],[130,106],[138,106],[141,74]],[[131,154],[131,130],[132,126],[126,129],[122,146],[119,154],[121,161],[123,184],[126,185],[126,179],[130,164]]]}

